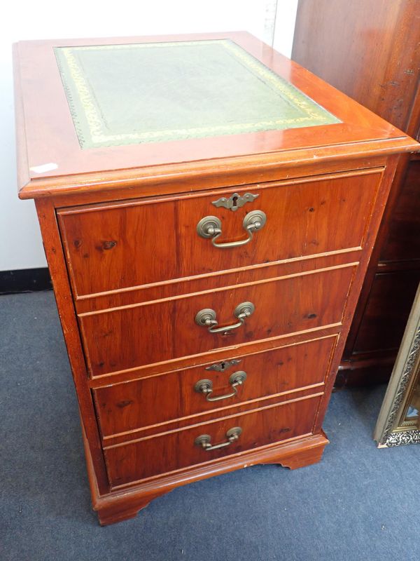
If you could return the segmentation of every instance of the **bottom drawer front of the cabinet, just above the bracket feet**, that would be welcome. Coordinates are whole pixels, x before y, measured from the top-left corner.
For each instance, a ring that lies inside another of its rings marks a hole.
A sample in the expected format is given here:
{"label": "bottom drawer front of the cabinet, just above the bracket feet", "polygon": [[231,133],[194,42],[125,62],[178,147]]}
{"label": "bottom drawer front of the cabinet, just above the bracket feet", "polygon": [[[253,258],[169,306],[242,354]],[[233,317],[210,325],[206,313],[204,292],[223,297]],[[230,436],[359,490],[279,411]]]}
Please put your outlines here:
{"label": "bottom drawer front of the cabinet, just above the bracket feet", "polygon": [[[307,435],[314,426],[320,399],[320,396],[302,398],[106,448],[104,452],[111,485],[126,485],[153,475]],[[209,435],[212,445],[228,442],[226,433],[235,427],[241,428],[241,435],[225,447],[204,450],[201,445],[195,444],[195,439],[201,435]]]}

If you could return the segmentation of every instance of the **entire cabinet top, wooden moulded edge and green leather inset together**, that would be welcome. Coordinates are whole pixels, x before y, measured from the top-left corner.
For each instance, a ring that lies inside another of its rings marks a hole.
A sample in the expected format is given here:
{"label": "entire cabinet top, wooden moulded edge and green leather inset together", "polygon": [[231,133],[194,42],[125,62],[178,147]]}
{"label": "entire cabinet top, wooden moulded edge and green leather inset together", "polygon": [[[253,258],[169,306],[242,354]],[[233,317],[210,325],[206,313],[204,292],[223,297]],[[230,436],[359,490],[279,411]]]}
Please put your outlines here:
{"label": "entire cabinet top, wooden moulded edge and green leather inset together", "polygon": [[416,149],[245,32],[14,46],[20,196]]}

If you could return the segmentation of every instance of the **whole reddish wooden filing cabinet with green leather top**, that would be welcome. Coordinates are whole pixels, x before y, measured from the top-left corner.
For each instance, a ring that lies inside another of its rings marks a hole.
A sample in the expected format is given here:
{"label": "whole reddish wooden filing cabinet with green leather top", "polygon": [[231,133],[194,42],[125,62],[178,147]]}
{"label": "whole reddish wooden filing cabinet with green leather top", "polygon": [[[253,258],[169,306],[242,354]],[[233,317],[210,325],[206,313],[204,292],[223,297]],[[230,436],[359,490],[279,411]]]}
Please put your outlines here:
{"label": "whole reddish wooden filing cabinet with green leather top", "polygon": [[389,187],[418,144],[245,32],[14,55],[19,194],[100,522],[210,475],[321,459]]}

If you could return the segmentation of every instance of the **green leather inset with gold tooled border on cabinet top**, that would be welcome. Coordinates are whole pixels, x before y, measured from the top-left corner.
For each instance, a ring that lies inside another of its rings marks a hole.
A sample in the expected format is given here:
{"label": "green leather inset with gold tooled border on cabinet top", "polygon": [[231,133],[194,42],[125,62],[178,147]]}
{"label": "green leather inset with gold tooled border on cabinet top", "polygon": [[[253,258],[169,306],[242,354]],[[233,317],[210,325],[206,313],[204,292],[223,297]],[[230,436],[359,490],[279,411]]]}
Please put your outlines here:
{"label": "green leather inset with gold tooled border on cabinet top", "polygon": [[228,39],[55,56],[83,149],[341,122]]}

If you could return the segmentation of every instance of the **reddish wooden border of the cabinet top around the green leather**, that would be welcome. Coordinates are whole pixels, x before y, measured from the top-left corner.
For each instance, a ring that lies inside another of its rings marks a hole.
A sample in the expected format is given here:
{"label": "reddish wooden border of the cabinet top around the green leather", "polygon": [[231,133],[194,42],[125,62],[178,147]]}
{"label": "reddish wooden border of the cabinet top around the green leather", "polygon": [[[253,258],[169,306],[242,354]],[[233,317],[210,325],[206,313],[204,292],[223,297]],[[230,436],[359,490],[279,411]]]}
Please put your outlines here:
{"label": "reddish wooden border of the cabinet top around the green leather", "polygon": [[[160,144],[80,149],[55,60],[55,47],[212,38],[232,39],[342,123]],[[24,41],[15,46],[15,61],[16,107],[18,115],[20,111],[25,114],[25,128],[18,130],[18,144],[22,147],[18,162],[22,198],[119,189],[123,182],[147,185],[180,177],[220,176],[221,172],[246,173],[267,165],[311,163],[314,158],[331,161],[337,157],[398,154],[416,146],[400,130],[245,32]],[[40,136],[43,142],[38,142]],[[23,154],[25,158],[21,160]],[[40,166],[41,171],[36,171]]]}

